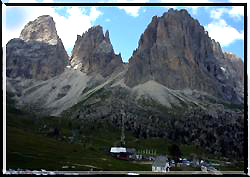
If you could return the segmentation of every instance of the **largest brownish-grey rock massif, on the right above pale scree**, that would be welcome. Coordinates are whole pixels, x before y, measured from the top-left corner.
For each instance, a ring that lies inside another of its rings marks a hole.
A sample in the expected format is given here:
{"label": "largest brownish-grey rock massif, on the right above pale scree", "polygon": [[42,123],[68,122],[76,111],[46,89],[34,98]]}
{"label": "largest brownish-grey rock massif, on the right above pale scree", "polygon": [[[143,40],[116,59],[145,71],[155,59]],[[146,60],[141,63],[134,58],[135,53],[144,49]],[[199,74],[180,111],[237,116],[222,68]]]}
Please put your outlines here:
{"label": "largest brownish-grey rock massif, on the right above pale scree", "polygon": [[134,87],[155,80],[171,89],[190,88],[242,103],[243,81],[235,79],[244,80],[243,75],[232,75],[243,73],[243,63],[237,61],[240,67],[233,66],[219,43],[186,10],[170,9],[162,17],[154,16],[141,35],[125,83]]}

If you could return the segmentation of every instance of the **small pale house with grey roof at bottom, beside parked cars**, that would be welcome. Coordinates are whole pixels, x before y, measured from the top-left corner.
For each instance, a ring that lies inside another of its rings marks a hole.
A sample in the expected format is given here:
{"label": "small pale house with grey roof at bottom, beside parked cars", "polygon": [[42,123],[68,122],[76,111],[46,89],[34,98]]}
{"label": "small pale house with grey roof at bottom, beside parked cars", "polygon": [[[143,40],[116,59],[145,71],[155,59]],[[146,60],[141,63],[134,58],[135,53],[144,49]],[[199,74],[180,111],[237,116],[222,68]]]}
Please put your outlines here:
{"label": "small pale house with grey roof at bottom, beside parked cars", "polygon": [[167,172],[170,169],[168,158],[165,156],[156,157],[155,161],[152,164],[153,172]]}

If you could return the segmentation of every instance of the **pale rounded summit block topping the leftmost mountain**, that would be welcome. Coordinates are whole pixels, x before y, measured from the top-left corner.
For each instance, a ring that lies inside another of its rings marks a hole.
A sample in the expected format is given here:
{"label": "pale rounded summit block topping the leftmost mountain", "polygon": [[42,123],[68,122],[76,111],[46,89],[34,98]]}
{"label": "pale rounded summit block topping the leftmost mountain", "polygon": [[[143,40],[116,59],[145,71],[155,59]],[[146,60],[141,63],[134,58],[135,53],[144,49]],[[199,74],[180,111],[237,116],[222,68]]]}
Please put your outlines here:
{"label": "pale rounded summit block topping the leftmost mountain", "polygon": [[43,15],[34,21],[30,21],[22,30],[20,39],[45,42],[52,45],[57,44],[59,37],[53,18],[49,15]]}

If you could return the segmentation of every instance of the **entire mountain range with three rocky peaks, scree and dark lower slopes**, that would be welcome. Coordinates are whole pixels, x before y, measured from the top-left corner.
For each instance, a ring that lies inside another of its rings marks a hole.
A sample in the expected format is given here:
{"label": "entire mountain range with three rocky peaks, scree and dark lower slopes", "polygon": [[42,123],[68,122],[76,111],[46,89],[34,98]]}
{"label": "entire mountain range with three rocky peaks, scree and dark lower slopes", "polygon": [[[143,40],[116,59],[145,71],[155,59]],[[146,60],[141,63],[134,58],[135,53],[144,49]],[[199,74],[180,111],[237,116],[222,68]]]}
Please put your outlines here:
{"label": "entire mountain range with three rocky peaks, scree and dark lower slopes", "polygon": [[164,137],[243,157],[244,67],[186,10],[152,17],[123,63],[109,31],[77,36],[69,57],[48,15],[6,46],[7,92],[38,116],[108,121],[138,138]]}

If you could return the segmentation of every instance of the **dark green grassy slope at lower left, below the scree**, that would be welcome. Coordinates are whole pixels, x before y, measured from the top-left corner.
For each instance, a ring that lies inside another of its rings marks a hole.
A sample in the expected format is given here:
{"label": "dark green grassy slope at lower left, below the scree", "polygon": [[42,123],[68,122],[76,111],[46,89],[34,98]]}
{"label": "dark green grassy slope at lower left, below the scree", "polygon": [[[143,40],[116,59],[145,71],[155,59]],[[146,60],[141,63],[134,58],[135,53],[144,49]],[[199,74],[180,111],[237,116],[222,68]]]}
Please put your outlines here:
{"label": "dark green grassy slope at lower left, below the scree", "polygon": [[[9,108],[7,112],[7,169],[47,169],[62,170],[62,166],[75,166],[70,170],[151,170],[150,165],[132,164],[127,161],[116,160],[101,151],[103,147],[110,147],[116,132],[109,131],[105,136],[98,136],[96,132],[83,144],[70,144],[55,138],[38,133],[39,121],[34,117]],[[33,118],[33,119],[32,119]],[[57,126],[56,118],[45,118],[41,122],[47,125]],[[39,123],[41,123],[39,122]],[[70,132],[63,123],[62,133]],[[64,124],[66,124],[64,122]],[[106,135],[108,137],[106,137]],[[104,139],[106,137],[106,139]],[[87,146],[86,146],[87,144]],[[64,169],[63,169],[64,170]]]}

